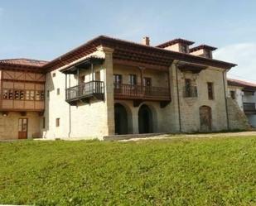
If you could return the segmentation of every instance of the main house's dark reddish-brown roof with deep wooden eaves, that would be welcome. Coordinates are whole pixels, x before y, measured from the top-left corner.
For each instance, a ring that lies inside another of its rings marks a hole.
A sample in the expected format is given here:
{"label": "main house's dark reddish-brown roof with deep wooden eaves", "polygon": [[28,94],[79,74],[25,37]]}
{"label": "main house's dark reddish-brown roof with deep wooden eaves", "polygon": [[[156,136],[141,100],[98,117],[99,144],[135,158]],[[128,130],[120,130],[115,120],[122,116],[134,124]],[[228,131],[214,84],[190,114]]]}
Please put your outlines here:
{"label": "main house's dark reddish-brown roof with deep wooden eaves", "polygon": [[107,46],[114,49],[114,60],[136,61],[141,64],[160,65],[166,68],[170,66],[172,60],[181,60],[223,69],[230,69],[235,66],[235,64],[221,60],[205,59],[200,56],[165,50],[156,46],[144,46],[133,41],[123,41],[109,36],[98,36],[82,46],[70,50],[64,55],[60,55],[60,57],[55,60],[51,60],[43,68],[50,71],[70,64],[72,61],[79,60],[81,57],[97,50],[97,46]]}

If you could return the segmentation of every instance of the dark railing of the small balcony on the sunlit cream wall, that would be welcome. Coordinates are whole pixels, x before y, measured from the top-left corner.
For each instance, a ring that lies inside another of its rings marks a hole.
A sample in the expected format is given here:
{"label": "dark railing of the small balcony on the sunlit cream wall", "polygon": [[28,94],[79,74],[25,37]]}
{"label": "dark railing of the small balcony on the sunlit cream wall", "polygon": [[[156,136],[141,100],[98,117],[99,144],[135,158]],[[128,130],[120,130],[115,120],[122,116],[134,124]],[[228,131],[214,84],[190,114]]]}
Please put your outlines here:
{"label": "dark railing of the small balcony on the sunlit cream wall", "polygon": [[67,101],[79,98],[92,97],[97,94],[104,95],[104,82],[90,81],[66,89],[65,99]]}

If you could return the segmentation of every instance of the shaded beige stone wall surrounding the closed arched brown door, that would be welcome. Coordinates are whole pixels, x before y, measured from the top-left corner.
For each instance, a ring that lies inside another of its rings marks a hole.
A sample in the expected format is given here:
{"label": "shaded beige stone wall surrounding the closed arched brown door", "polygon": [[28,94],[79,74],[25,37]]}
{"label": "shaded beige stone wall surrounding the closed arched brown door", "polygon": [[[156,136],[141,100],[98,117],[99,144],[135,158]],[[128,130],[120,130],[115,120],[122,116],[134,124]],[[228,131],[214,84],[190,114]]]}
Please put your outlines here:
{"label": "shaded beige stone wall surrounding the closed arched brown door", "polygon": [[[200,131],[200,106],[208,106],[212,111],[212,131],[227,129],[227,117],[225,110],[225,87],[223,84],[223,71],[216,68],[208,68],[200,71],[199,74],[181,72],[176,69],[175,63],[170,68],[171,73],[171,105],[167,107],[173,114],[170,119],[174,132],[180,131],[179,107],[181,118],[181,132]],[[176,74],[177,72],[177,74]],[[178,83],[176,84],[176,77]],[[184,97],[185,79],[192,79],[196,85],[198,96],[194,98]],[[208,98],[207,82],[214,85],[214,99]],[[177,94],[178,87],[178,94]],[[179,103],[178,97],[179,95]]]}

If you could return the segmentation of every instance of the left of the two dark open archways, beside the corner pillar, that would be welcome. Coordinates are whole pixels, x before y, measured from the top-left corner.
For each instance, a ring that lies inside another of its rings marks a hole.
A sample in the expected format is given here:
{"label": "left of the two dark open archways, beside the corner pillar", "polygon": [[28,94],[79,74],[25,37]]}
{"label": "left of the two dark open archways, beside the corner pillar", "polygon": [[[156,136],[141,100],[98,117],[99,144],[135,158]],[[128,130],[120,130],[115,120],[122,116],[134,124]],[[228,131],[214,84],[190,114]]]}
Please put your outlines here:
{"label": "left of the two dark open archways, beside the corner pillar", "polygon": [[128,134],[128,114],[126,108],[120,103],[114,104],[114,127],[115,134]]}

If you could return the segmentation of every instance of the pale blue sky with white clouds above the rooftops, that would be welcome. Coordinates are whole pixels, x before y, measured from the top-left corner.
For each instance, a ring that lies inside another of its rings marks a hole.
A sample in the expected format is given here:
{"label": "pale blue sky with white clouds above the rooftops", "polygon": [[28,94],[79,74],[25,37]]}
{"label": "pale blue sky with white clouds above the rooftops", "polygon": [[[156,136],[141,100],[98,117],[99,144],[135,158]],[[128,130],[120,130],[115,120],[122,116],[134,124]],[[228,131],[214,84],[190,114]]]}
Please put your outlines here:
{"label": "pale blue sky with white clouds above the rooftops", "polygon": [[218,47],[215,59],[238,65],[229,78],[256,82],[255,11],[255,0],[0,0],[0,59],[52,60],[99,35],[180,37]]}

